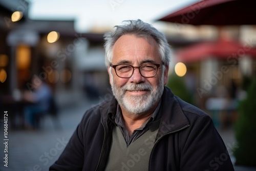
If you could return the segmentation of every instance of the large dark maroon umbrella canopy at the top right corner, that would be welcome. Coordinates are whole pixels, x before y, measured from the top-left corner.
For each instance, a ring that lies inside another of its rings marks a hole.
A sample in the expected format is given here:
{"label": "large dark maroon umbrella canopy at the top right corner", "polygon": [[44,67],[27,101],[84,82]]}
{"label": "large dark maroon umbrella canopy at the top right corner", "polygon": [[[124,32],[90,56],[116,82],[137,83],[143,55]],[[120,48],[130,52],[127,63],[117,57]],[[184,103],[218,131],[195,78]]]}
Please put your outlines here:
{"label": "large dark maroon umbrella canopy at the top right corner", "polygon": [[204,0],[159,20],[191,25],[254,25],[255,1]]}

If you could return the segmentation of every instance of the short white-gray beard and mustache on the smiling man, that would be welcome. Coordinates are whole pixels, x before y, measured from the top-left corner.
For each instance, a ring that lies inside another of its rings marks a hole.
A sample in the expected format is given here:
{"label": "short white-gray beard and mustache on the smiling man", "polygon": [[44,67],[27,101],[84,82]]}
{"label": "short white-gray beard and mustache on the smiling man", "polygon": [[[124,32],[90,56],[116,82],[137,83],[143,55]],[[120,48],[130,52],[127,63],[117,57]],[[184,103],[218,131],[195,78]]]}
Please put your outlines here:
{"label": "short white-gray beard and mustache on the smiling man", "polygon": [[[113,78],[113,77],[112,77]],[[150,83],[131,83],[118,88],[112,79],[112,91],[120,106],[127,112],[140,116],[154,108],[163,94],[163,74],[158,80],[158,85],[153,88]],[[127,95],[126,91],[147,90],[145,95]]]}

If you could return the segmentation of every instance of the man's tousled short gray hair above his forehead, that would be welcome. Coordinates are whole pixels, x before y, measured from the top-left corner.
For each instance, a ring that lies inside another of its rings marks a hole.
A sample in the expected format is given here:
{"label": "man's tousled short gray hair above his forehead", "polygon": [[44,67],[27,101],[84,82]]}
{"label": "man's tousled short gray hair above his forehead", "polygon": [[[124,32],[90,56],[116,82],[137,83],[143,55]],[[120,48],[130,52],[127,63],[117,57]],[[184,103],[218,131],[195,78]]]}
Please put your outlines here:
{"label": "man's tousled short gray hair above his forehead", "polygon": [[152,25],[142,22],[142,20],[126,20],[123,26],[115,26],[115,30],[104,34],[105,65],[108,67],[113,58],[113,46],[118,38],[125,34],[134,34],[147,40],[153,38],[157,44],[161,59],[164,65],[168,66],[170,61],[170,47],[163,33]]}

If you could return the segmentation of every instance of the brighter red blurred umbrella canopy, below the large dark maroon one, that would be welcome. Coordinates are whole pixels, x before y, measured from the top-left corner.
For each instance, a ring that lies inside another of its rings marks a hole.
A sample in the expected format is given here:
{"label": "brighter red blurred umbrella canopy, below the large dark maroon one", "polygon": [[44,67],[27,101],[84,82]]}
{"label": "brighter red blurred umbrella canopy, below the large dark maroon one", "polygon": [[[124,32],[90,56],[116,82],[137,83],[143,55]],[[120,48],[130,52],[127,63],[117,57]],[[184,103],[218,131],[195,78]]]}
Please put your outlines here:
{"label": "brighter red blurred umbrella canopy, below the large dark maroon one", "polygon": [[256,49],[252,47],[249,41],[242,45],[238,41],[220,39],[218,41],[199,42],[183,48],[176,53],[176,56],[178,61],[191,62],[199,61],[205,57],[239,60],[246,54],[256,56]]}

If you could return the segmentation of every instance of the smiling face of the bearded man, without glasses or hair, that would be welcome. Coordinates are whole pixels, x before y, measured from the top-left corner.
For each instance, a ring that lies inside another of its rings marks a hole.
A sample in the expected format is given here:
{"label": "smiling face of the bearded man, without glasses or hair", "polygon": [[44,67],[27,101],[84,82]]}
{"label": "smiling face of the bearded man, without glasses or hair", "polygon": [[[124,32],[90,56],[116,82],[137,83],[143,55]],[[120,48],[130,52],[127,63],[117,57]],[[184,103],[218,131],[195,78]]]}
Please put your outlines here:
{"label": "smiling face of the bearded man, without glasses or hair", "polygon": [[112,67],[109,68],[113,94],[121,109],[137,116],[153,112],[151,110],[160,100],[167,83],[168,66],[165,66],[163,72],[158,45],[153,38],[149,41],[130,34],[121,36],[113,47],[112,65],[127,64],[138,67],[146,63],[160,64],[154,77],[145,78],[135,68],[132,77],[120,78]]}

